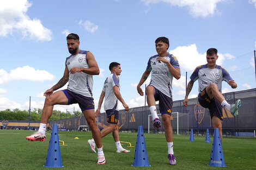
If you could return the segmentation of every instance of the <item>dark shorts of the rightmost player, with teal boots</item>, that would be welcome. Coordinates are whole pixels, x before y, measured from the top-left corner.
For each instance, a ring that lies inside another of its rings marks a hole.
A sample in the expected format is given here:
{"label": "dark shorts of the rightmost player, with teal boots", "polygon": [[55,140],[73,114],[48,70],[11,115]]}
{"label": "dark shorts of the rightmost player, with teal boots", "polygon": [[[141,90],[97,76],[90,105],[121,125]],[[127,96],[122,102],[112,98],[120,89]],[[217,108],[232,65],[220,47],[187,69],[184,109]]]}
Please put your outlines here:
{"label": "dark shorts of the rightmost player, with teal boots", "polygon": [[198,94],[198,102],[204,108],[209,109],[211,118],[216,116],[221,120],[223,119],[222,105],[215,98],[210,99],[206,93],[206,87]]}

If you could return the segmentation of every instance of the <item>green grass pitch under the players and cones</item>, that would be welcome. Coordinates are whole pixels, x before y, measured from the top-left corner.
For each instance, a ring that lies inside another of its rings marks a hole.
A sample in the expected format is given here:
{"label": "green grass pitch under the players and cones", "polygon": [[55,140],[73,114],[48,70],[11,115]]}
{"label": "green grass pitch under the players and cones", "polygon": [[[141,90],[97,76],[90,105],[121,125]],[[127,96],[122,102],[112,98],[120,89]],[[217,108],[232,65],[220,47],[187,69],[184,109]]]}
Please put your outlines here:
{"label": "green grass pitch under the players and cones", "polygon": [[[0,169],[47,169],[46,162],[51,132],[45,142],[26,141],[33,131],[0,130]],[[256,138],[223,137],[222,148],[227,167],[208,166],[211,143],[205,136],[174,135],[174,155],[177,164],[171,166],[167,158],[167,143],[163,134],[144,134],[148,160],[151,167],[135,167],[135,148],[127,147],[131,153],[116,153],[112,135],[102,138],[105,165],[97,165],[97,154],[90,152],[87,140],[90,132],[59,131],[59,140],[68,144],[60,146],[62,165],[60,169],[256,169]],[[74,139],[78,137],[79,139]],[[120,133],[120,140],[136,146],[137,133]],[[212,142],[212,137],[211,137]]]}

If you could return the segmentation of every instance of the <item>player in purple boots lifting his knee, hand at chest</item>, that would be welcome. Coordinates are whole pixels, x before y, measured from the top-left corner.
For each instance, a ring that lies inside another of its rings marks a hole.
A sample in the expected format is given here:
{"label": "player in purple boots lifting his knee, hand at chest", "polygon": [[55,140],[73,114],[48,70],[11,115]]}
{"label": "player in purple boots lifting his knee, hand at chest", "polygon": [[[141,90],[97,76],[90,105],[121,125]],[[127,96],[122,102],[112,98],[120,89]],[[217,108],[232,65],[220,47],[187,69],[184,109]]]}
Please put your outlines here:
{"label": "player in purple boots lifting his knee, hand at chest", "polygon": [[164,133],[168,146],[168,159],[170,165],[176,165],[176,159],[173,152],[173,128],[170,124],[173,106],[173,88],[172,81],[180,78],[180,66],[176,57],[167,52],[169,40],[166,37],[159,37],[155,41],[157,55],[151,56],[148,61],[146,71],[143,73],[137,86],[139,95],[144,92],[141,85],[147,80],[151,72],[150,84],[146,88],[147,102],[149,110],[153,117],[153,125],[156,129],[161,128],[160,119],[157,116],[156,102],[159,100],[159,109],[162,115]]}

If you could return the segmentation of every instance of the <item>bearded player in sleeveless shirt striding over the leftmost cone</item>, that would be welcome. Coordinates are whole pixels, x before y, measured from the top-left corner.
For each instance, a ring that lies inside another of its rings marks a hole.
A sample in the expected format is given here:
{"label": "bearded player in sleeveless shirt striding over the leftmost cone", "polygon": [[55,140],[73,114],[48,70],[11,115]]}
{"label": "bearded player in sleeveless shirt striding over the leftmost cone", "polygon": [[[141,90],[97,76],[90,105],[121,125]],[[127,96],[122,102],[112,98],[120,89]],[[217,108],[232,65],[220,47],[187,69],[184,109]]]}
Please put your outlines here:
{"label": "bearded player in sleeveless shirt striding over the leftmost cone", "polygon": [[[94,55],[89,51],[80,50],[80,41],[77,34],[69,34],[66,37],[66,42],[71,55],[66,58],[64,75],[56,85],[44,92],[46,98],[39,130],[33,135],[27,136],[26,139],[30,141],[45,141],[46,124],[52,115],[53,106],[56,104],[69,105],[78,103],[95,139],[98,150],[97,163],[104,164],[106,160],[102,150],[100,129],[97,127],[94,116],[92,94],[93,75],[98,75],[100,70]],[[54,92],[67,82],[69,82],[68,89]]]}

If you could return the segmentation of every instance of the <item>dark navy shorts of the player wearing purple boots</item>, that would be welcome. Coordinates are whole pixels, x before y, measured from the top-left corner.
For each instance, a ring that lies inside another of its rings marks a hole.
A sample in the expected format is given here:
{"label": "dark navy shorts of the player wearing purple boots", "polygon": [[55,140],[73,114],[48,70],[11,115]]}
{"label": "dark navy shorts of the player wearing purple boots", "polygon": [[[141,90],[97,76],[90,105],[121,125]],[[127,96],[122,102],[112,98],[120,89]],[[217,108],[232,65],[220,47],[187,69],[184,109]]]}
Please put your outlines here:
{"label": "dark navy shorts of the player wearing purple boots", "polygon": [[159,101],[159,110],[161,115],[163,114],[172,115],[173,99],[164,95],[164,93],[162,93],[160,90],[156,88],[155,88],[154,97],[156,101]]}

